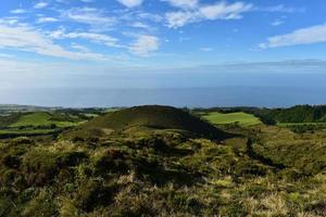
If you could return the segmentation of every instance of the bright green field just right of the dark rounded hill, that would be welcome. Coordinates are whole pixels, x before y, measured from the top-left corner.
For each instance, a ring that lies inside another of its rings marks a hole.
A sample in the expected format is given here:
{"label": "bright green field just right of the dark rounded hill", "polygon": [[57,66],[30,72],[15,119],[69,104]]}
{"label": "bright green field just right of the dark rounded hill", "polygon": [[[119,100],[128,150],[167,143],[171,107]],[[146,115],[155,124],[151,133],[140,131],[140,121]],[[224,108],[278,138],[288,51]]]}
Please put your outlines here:
{"label": "bright green field just right of the dark rounded hill", "polygon": [[215,125],[227,125],[238,123],[241,126],[252,126],[262,124],[258,117],[243,112],[228,114],[212,112],[206,115],[203,115],[203,118]]}

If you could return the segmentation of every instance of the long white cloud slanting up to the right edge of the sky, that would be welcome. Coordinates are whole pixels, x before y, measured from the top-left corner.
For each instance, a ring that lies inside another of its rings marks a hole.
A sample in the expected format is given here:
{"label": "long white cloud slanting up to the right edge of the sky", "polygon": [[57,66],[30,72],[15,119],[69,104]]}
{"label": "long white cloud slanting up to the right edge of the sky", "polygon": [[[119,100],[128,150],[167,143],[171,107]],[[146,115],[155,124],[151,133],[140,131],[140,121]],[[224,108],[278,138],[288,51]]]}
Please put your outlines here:
{"label": "long white cloud slanting up to the right edge of the sky", "polygon": [[262,49],[326,42],[326,24],[301,28],[290,34],[267,38]]}

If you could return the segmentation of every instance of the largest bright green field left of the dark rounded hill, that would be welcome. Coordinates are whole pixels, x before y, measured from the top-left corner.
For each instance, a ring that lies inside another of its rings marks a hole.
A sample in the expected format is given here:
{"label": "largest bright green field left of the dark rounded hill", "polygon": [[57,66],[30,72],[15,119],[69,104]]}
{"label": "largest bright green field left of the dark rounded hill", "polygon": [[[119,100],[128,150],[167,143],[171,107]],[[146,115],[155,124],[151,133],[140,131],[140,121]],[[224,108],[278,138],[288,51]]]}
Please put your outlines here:
{"label": "largest bright green field left of the dark rounded hill", "polygon": [[49,113],[32,113],[21,116],[20,119],[10,127],[49,126],[52,124],[57,125],[58,127],[71,127],[76,126],[78,123],[55,122],[51,120],[51,115]]}

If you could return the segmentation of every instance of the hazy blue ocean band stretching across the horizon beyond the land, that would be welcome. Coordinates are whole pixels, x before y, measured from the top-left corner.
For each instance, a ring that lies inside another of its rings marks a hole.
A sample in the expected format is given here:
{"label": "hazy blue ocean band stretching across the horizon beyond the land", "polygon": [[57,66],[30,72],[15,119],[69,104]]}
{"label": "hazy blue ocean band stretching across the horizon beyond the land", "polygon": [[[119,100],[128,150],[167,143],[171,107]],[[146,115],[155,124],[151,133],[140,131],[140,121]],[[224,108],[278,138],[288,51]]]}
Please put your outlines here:
{"label": "hazy blue ocean band stretching across the horizon beyond the land", "polygon": [[188,107],[287,107],[326,104],[326,87],[218,87],[168,89],[0,89],[0,104],[112,107],[162,104]]}

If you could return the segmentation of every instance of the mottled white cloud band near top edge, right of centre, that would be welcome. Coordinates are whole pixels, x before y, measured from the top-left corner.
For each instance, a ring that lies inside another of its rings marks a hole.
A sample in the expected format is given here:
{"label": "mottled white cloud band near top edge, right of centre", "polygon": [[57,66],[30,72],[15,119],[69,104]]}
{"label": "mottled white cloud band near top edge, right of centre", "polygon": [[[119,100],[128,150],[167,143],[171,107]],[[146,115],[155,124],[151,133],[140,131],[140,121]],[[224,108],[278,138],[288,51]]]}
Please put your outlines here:
{"label": "mottled white cloud band near top edge, right of centre", "polygon": [[243,2],[217,2],[209,5],[198,5],[193,10],[183,10],[168,12],[165,14],[167,26],[171,28],[183,27],[189,23],[196,23],[205,20],[238,20],[242,18],[244,12],[252,10],[252,4]]}

